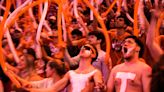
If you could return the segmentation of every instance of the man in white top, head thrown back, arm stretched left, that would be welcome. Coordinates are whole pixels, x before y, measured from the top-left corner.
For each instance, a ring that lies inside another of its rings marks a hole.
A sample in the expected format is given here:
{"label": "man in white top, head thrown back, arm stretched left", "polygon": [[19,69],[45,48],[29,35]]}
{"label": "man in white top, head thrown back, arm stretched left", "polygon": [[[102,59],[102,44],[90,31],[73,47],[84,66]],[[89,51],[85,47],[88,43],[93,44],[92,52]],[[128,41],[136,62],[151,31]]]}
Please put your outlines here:
{"label": "man in white top, head thrown back, arm stretched left", "polygon": [[97,51],[89,44],[84,45],[80,50],[79,67],[70,70],[66,75],[49,89],[31,89],[34,92],[59,92],[68,84],[68,92],[93,92],[94,86],[98,91],[104,87],[101,72],[92,66],[92,61],[96,59]]}

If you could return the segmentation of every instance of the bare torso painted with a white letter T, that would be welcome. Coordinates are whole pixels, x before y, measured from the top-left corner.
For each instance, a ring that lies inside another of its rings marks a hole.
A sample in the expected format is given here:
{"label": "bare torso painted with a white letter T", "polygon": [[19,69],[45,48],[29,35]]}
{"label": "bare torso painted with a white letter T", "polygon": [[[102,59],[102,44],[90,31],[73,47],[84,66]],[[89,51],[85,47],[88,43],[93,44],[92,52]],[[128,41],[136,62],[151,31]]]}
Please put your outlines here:
{"label": "bare torso painted with a white letter T", "polygon": [[[114,69],[114,85],[116,92],[143,92],[142,76],[148,66],[143,62],[136,62],[130,66],[125,63]],[[149,68],[149,67],[148,67]]]}

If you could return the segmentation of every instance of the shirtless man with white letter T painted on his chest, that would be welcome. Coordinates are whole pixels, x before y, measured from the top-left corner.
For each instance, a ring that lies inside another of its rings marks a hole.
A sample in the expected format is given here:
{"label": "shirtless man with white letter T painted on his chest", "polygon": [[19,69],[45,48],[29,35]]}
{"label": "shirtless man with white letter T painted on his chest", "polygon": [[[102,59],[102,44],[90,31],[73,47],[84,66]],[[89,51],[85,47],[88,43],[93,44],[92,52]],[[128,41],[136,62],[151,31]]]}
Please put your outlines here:
{"label": "shirtless man with white letter T painted on his chest", "polygon": [[113,92],[150,92],[151,68],[139,60],[143,46],[135,36],[124,40],[124,63],[116,65],[110,74],[107,90]]}

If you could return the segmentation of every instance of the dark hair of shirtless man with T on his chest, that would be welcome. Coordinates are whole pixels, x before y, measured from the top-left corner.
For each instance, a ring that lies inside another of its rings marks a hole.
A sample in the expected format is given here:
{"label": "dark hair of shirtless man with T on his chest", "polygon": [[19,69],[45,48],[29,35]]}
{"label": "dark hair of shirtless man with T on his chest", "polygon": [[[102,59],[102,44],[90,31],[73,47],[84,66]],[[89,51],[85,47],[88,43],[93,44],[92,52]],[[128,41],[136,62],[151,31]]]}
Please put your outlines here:
{"label": "dark hair of shirtless man with T on his chest", "polygon": [[134,39],[135,43],[137,43],[137,45],[140,47],[139,57],[142,57],[142,55],[144,53],[144,45],[143,45],[142,41],[139,40],[136,36],[133,36],[133,35],[125,37],[125,39],[128,39],[128,38]]}

